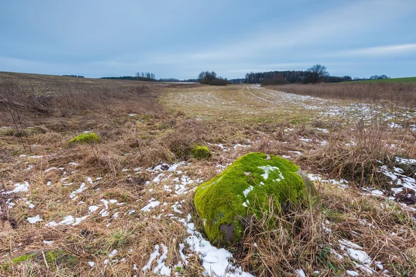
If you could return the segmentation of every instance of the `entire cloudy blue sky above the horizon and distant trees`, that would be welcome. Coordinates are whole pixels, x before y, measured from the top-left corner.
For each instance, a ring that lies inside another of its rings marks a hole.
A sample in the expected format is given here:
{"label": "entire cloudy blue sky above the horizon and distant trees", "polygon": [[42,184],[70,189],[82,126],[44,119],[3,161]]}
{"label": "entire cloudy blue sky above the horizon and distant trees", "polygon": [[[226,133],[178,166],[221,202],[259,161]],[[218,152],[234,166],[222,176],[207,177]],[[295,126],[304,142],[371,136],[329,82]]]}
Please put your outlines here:
{"label": "entire cloudy blue sky above the horizon and distant trees", "polygon": [[415,0],[0,2],[0,71],[416,76]]}

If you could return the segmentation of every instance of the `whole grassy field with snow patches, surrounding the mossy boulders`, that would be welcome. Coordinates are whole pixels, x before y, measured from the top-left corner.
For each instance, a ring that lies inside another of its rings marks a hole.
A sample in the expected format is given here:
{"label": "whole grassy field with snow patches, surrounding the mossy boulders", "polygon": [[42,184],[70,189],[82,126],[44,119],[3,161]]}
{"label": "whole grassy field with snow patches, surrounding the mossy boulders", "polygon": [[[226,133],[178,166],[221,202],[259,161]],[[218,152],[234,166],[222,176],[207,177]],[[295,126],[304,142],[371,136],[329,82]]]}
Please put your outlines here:
{"label": "whole grassy field with snow patches, surrounding the mossy boulders", "polygon": [[[416,275],[415,105],[304,87],[0,78],[1,276]],[[68,144],[86,132],[100,143]],[[213,156],[191,157],[195,144]],[[320,202],[253,217],[222,249],[194,190],[248,152],[297,163]]]}

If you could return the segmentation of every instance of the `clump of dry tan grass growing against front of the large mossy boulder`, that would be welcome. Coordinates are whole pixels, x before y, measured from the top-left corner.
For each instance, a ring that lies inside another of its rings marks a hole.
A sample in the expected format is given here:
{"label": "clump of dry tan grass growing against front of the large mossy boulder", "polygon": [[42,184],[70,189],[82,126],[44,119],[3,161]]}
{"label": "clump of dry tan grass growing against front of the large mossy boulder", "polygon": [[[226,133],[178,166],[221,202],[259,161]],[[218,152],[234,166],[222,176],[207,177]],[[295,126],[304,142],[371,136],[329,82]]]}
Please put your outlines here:
{"label": "clump of dry tan grass growing against front of the large mossy boulder", "polygon": [[318,254],[328,243],[324,215],[313,207],[275,211],[270,204],[261,218],[252,217],[236,258],[255,276],[290,276],[296,269],[322,267]]}

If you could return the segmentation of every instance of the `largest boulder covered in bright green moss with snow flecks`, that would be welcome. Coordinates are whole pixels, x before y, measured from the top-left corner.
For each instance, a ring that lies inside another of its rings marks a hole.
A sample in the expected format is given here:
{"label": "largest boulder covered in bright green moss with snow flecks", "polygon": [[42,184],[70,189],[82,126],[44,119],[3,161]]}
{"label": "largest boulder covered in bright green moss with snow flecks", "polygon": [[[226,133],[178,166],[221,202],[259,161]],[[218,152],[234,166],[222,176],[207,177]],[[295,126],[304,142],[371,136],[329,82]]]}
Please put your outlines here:
{"label": "largest boulder covered in bright green moss with snow flecks", "polygon": [[214,244],[238,242],[245,220],[275,207],[311,204],[313,182],[295,163],[259,152],[245,154],[220,175],[196,188],[193,199],[205,234]]}

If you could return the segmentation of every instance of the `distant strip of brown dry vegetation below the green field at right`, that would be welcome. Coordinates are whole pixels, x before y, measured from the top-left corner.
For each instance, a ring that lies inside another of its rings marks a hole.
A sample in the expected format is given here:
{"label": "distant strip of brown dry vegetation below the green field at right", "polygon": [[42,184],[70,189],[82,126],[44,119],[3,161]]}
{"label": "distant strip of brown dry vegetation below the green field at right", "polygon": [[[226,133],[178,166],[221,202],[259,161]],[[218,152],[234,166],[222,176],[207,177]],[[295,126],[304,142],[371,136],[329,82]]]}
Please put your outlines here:
{"label": "distant strip of brown dry vegetation below the green field at right", "polygon": [[416,107],[415,83],[285,84],[272,88],[305,96],[389,102],[391,105]]}

